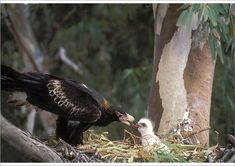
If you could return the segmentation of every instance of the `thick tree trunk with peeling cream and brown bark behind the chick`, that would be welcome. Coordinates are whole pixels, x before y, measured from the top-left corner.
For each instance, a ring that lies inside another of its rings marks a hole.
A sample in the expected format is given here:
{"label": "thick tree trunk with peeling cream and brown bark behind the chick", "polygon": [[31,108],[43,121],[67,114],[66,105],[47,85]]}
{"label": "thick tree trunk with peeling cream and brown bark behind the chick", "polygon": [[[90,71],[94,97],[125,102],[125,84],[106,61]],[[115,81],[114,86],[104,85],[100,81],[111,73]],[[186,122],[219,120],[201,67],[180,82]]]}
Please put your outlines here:
{"label": "thick tree trunk with peeling cream and brown bark behind the chick", "polygon": [[[208,32],[198,30],[196,15],[192,17],[190,32],[185,26],[177,27],[179,7],[153,5],[154,66],[148,117],[155,122],[159,135],[184,119],[191,122],[191,132],[209,127],[215,62],[208,46]],[[208,131],[192,137],[193,143],[209,143]]]}

